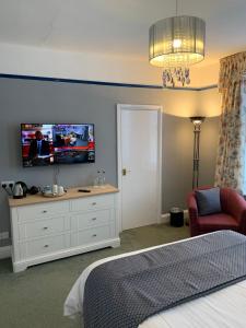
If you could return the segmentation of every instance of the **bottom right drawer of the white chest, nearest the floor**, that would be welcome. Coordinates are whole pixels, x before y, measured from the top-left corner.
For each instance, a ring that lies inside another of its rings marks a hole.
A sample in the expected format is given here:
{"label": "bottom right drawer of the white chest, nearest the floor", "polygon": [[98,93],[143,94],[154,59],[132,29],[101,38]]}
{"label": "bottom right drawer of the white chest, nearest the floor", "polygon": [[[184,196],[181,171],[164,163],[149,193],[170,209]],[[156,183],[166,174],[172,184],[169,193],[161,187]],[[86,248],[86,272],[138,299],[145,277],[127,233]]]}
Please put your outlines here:
{"label": "bottom right drawer of the white chest, nearest the floor", "polygon": [[87,229],[72,234],[71,243],[72,246],[80,246],[85,244],[94,244],[108,239],[110,237],[110,226],[97,226]]}

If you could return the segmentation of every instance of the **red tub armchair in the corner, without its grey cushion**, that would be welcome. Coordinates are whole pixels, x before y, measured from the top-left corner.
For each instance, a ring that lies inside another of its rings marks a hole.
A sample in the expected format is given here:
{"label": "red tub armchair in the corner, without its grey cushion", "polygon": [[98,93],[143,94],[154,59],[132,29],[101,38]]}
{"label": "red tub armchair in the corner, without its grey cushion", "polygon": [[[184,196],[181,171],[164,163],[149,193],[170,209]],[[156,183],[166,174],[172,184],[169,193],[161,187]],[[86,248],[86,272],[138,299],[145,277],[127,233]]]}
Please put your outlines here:
{"label": "red tub armchair in the corner, without its grey cushion", "polygon": [[220,199],[221,213],[199,216],[195,192],[188,195],[187,202],[191,237],[218,230],[233,230],[246,234],[245,199],[231,188],[221,188]]}

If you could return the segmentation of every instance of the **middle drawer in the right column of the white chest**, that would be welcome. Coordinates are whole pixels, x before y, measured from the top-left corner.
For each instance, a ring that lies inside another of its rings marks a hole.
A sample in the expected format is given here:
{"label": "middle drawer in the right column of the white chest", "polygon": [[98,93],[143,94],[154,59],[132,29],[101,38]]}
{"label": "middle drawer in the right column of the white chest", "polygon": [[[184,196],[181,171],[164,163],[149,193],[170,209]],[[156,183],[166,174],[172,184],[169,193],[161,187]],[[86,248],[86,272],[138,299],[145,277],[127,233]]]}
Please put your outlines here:
{"label": "middle drawer in the right column of the white chest", "polygon": [[106,225],[110,221],[110,210],[101,210],[73,214],[71,218],[71,230],[78,231],[90,226]]}

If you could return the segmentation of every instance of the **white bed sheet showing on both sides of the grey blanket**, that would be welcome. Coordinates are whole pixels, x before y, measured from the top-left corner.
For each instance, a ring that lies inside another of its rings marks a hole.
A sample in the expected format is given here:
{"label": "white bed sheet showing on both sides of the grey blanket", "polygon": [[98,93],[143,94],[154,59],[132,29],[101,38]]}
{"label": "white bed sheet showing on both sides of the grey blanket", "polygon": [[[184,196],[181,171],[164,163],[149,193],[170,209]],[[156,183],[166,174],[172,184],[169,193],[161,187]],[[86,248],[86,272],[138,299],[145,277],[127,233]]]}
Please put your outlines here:
{"label": "white bed sheet showing on both sides of the grey blanket", "polygon": [[[200,236],[194,237],[199,238]],[[144,248],[98,260],[89,266],[72,286],[66,302],[65,316],[82,316],[84,285],[90,272],[97,266],[117,258],[150,249],[181,243]],[[246,280],[207,296],[187,302],[144,320],[139,328],[245,328],[246,327]],[[99,327],[98,327],[99,328]]]}

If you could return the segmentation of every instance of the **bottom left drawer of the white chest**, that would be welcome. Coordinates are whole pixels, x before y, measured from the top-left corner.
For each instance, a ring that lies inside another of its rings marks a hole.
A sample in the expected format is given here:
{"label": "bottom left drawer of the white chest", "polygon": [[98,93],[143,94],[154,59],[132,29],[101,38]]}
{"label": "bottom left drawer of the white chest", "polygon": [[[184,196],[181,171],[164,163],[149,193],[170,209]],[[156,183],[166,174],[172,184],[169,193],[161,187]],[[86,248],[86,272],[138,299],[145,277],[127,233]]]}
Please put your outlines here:
{"label": "bottom left drawer of the white chest", "polygon": [[70,246],[68,239],[67,235],[60,235],[21,243],[21,256],[22,258],[36,257],[68,248]]}

